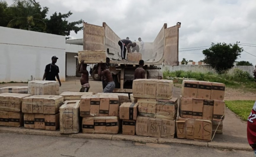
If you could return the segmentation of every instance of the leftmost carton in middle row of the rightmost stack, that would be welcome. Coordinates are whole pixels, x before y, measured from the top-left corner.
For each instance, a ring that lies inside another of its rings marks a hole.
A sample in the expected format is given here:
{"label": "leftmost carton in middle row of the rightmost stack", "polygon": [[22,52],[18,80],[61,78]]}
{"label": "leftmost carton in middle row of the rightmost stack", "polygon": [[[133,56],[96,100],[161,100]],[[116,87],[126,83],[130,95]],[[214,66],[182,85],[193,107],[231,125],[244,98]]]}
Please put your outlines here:
{"label": "leftmost carton in middle row of the rightmost stack", "polygon": [[180,99],[180,116],[182,118],[192,118],[193,98],[181,97]]}

